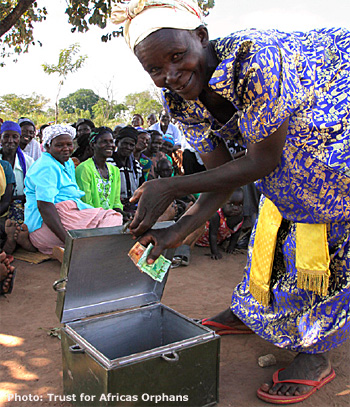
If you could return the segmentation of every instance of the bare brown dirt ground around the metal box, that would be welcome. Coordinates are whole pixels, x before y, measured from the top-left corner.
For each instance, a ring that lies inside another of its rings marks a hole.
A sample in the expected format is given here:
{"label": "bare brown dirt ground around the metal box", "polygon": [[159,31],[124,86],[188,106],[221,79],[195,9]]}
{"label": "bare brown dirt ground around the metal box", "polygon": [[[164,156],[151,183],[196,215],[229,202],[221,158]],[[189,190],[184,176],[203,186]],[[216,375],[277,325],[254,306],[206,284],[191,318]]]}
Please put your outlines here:
{"label": "bare brown dirt ground around the metal box", "polygon": [[[171,270],[164,304],[193,318],[209,317],[227,308],[232,287],[241,278],[245,255],[224,253],[223,259],[213,261],[205,256],[207,252],[206,248],[195,248],[190,266]],[[70,406],[60,401],[60,341],[50,335],[60,326],[52,289],[60,264],[56,260],[39,265],[16,260],[14,265],[17,276],[13,292],[0,297],[0,406]],[[277,365],[259,367],[258,357],[268,353],[275,355]],[[349,342],[333,350],[331,357],[336,379],[303,402],[303,407],[350,405]],[[222,337],[218,407],[267,406],[256,398],[256,389],[292,358],[291,352],[277,349],[256,335]],[[55,395],[56,401],[50,401],[48,394]],[[11,395],[21,397],[20,401],[8,401]],[[25,401],[30,395],[42,396],[42,401]]]}

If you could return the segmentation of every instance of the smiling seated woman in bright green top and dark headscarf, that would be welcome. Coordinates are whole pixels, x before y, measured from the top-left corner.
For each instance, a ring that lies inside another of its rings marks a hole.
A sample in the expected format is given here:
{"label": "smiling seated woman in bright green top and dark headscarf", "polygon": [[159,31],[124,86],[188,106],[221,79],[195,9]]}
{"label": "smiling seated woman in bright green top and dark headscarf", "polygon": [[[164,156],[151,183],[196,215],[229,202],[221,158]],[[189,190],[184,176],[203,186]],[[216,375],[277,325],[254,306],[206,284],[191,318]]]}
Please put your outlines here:
{"label": "smiling seated woman in bright green top and dark headscarf", "polygon": [[85,192],[81,200],[94,208],[114,209],[123,213],[120,171],[115,165],[106,162],[108,157],[112,157],[115,148],[112,129],[94,129],[90,145],[94,155],[75,169],[77,184]]}

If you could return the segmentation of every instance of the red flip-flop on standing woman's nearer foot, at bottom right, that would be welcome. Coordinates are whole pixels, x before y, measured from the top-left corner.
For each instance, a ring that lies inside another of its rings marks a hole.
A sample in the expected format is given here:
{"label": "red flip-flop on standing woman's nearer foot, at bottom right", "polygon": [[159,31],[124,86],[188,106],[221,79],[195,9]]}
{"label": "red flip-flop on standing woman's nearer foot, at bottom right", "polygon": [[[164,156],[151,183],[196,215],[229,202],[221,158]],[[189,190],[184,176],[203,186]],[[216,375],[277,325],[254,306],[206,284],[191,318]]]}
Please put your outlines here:
{"label": "red flip-flop on standing woman's nearer foot, at bottom right", "polygon": [[281,370],[284,369],[279,369],[277,370],[273,376],[272,376],[272,381],[273,384],[277,383],[294,383],[294,384],[305,384],[306,386],[312,386],[312,389],[308,391],[305,394],[300,394],[298,396],[283,396],[279,394],[269,394],[266,393],[265,391],[262,391],[261,388],[258,389],[256,395],[259,397],[259,399],[266,401],[267,403],[272,403],[272,404],[293,404],[293,403],[300,403],[301,401],[306,400],[308,397],[310,397],[312,394],[314,394],[317,390],[319,390],[322,386],[325,384],[329,383],[335,378],[335,372],[332,369],[330,374],[325,377],[324,379],[320,381],[315,381],[315,380],[302,380],[302,379],[289,379],[289,380],[278,380],[278,374]]}

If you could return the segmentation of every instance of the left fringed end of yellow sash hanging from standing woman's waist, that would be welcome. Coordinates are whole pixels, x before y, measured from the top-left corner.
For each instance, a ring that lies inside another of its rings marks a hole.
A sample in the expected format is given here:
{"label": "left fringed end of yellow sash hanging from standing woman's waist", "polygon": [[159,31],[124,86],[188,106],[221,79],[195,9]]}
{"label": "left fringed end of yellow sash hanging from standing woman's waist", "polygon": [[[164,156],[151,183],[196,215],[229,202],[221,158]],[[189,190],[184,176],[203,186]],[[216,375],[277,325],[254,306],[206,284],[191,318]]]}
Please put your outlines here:
{"label": "left fringed end of yellow sash hanging from standing woman's waist", "polygon": [[249,280],[249,292],[265,307],[270,302],[270,279],[281,222],[278,209],[265,198],[256,227]]}

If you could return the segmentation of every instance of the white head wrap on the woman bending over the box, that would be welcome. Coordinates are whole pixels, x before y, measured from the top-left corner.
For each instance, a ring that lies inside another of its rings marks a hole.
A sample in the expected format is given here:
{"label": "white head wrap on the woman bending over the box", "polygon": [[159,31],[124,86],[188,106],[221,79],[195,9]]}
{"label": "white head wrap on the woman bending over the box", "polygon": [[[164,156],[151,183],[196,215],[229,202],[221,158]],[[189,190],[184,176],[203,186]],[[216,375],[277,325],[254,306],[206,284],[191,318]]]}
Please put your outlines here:
{"label": "white head wrap on the woman bending over the box", "polygon": [[162,28],[195,30],[204,24],[203,13],[196,0],[130,0],[112,8],[111,20],[124,25],[124,37],[134,51],[135,46]]}

